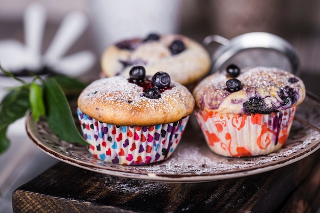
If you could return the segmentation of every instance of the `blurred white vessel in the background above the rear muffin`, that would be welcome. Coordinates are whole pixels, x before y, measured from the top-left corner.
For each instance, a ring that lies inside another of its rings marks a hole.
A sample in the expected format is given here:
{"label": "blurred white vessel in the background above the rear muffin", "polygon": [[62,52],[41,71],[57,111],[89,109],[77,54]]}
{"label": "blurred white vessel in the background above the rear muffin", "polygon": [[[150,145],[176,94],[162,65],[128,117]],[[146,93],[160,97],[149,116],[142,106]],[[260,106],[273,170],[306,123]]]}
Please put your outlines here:
{"label": "blurred white vessel in the background above the rear muffin", "polygon": [[95,0],[88,13],[99,54],[110,44],[149,33],[176,33],[180,24],[180,0]]}

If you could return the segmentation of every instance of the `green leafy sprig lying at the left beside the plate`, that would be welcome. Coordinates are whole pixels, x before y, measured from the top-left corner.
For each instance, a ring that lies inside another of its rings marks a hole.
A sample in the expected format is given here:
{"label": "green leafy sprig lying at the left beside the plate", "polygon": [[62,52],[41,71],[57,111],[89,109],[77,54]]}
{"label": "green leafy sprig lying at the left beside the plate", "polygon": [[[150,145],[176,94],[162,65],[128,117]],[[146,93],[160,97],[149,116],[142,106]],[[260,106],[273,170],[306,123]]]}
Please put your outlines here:
{"label": "green leafy sprig lying at the left beside the plate", "polygon": [[17,78],[14,74],[0,69],[8,77],[22,83],[13,87],[0,103],[0,154],[8,149],[10,141],[7,129],[10,124],[24,117],[30,110],[35,122],[45,117],[52,132],[68,143],[87,144],[79,133],[72,115],[65,91],[81,91],[86,84],[66,76],[47,76],[45,79],[34,75],[31,83]]}

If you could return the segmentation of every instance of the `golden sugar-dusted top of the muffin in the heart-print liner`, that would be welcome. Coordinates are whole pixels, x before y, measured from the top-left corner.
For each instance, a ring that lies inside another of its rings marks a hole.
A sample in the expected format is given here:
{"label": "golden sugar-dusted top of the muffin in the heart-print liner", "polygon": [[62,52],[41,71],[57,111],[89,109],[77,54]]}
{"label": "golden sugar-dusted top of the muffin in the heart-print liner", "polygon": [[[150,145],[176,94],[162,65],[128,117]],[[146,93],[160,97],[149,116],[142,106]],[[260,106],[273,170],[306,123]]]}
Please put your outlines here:
{"label": "golden sugar-dusted top of the muffin in the heart-print liner", "polygon": [[78,107],[98,121],[121,126],[173,123],[192,113],[194,99],[185,86],[170,80],[164,88],[153,84],[152,76],[142,81],[125,76],[99,79],[81,92]]}

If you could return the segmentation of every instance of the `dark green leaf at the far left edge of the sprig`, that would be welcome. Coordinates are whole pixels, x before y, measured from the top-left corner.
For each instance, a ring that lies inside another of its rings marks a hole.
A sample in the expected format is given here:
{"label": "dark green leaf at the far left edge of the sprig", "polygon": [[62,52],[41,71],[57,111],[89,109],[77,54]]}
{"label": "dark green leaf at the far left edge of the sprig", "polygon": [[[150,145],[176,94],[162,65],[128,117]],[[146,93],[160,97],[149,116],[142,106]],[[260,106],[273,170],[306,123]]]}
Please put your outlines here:
{"label": "dark green leaf at the far left edge of the sprig", "polygon": [[0,153],[9,147],[8,126],[25,116],[29,107],[29,90],[24,86],[10,91],[3,99],[0,104]]}

